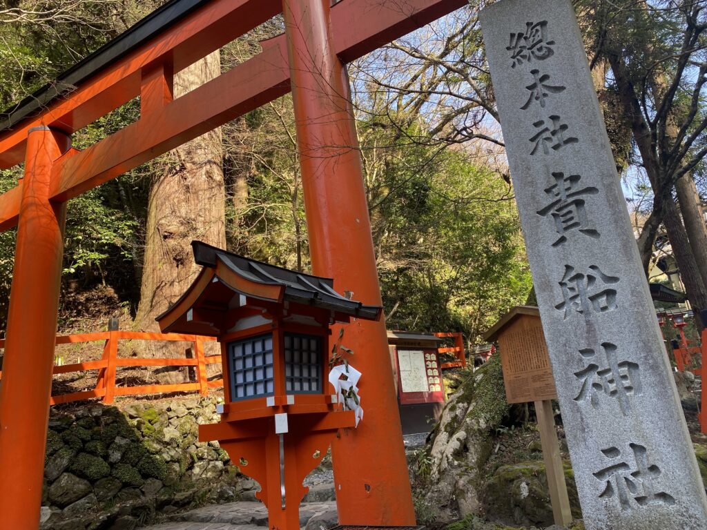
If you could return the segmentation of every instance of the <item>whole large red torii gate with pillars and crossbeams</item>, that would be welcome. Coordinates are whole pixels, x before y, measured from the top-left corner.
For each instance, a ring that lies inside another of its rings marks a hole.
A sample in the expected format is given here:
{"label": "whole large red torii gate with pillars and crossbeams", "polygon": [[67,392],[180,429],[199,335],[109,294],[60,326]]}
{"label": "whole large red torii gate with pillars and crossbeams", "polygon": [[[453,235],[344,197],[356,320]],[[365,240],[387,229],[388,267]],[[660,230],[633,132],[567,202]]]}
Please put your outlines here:
{"label": "whole large red torii gate with pillars and crossbeams", "polygon": [[[76,90],[53,95],[45,89],[35,112],[32,103],[29,111],[21,107],[0,129],[0,167],[25,163],[23,181],[0,196],[0,230],[18,225],[0,383],[1,528],[36,529],[39,522],[64,213],[72,197],[292,90],[313,273],[380,304],[344,64],[466,0],[329,4],[173,0],[148,17],[168,25],[141,38],[136,35],[146,25],[129,30],[77,65],[88,73]],[[280,12],[284,35],[173,100],[174,72]],[[72,133],[138,95],[137,122],[83,151],[71,148]],[[332,449],[340,522],[414,524],[385,322],[351,324],[346,342],[366,351],[357,367],[368,406],[366,421]]]}

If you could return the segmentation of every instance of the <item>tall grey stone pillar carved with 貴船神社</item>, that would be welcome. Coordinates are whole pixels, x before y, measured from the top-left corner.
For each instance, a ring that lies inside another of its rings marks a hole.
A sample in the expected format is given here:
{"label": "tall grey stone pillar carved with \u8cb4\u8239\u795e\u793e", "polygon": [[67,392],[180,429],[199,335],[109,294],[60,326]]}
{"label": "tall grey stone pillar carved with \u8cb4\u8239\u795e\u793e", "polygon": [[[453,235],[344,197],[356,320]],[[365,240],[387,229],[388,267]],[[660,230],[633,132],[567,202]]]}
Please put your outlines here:
{"label": "tall grey stone pillar carved with \u8cb4\u8239\u795e\u793e", "polygon": [[707,497],[568,0],[481,12],[588,530],[707,529]]}

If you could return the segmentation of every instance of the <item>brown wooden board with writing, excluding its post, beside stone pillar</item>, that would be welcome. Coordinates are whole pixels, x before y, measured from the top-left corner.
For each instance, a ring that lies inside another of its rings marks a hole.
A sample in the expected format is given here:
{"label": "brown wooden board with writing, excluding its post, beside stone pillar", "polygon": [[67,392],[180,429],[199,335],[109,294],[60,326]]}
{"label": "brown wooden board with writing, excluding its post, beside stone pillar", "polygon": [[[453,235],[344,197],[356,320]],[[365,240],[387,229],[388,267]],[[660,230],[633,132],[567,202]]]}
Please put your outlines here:
{"label": "brown wooden board with writing, excluding its post, beside stone pillar", "polygon": [[533,307],[515,307],[514,311],[496,339],[506,400],[527,403],[557,399],[539,312]]}

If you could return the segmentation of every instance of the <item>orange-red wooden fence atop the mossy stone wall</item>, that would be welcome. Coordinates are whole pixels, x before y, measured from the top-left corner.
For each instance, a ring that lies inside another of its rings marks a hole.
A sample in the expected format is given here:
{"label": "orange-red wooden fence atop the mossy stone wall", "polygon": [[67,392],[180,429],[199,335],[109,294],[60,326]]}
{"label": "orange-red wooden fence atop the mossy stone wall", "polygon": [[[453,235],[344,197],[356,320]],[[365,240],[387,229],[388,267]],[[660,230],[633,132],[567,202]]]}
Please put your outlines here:
{"label": "orange-red wooden fence atop the mossy stone wall", "polygon": [[[122,339],[140,341],[180,341],[191,342],[194,345],[192,352],[194,358],[119,358],[118,343]],[[91,360],[86,363],[54,366],[54,375],[71,372],[84,372],[98,370],[98,380],[93,390],[71,392],[70,394],[52,395],[49,404],[57,405],[83,399],[103,398],[103,403],[111,404],[115,396],[134,396],[136,394],[158,394],[160,392],[188,392],[199,391],[206,396],[209,389],[223,387],[223,379],[209,381],[206,377],[206,365],[221,364],[221,355],[204,355],[204,343],[214,341],[212,337],[197,335],[182,335],[175,333],[141,333],[137,331],[101,331],[99,333],[86,333],[78,335],[57,336],[57,345],[81,342],[105,341],[103,357],[100,360]],[[4,348],[5,341],[0,340],[0,348]],[[119,387],[115,384],[115,375],[119,367],[154,367],[154,366],[194,366],[197,382],[177,384],[149,384],[136,387]],[[2,372],[0,372],[0,377]]]}

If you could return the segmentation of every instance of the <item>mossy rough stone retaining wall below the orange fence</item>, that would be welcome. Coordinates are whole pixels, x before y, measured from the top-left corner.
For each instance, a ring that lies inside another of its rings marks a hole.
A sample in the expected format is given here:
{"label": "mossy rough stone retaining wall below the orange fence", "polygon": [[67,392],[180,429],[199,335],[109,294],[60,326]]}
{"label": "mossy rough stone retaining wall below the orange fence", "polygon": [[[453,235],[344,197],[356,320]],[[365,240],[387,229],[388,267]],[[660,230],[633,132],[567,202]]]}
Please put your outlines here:
{"label": "mossy rough stone retaining wall below the orange fence", "polygon": [[41,528],[132,528],[252,490],[218,443],[197,441],[218,419],[214,398],[52,408]]}

